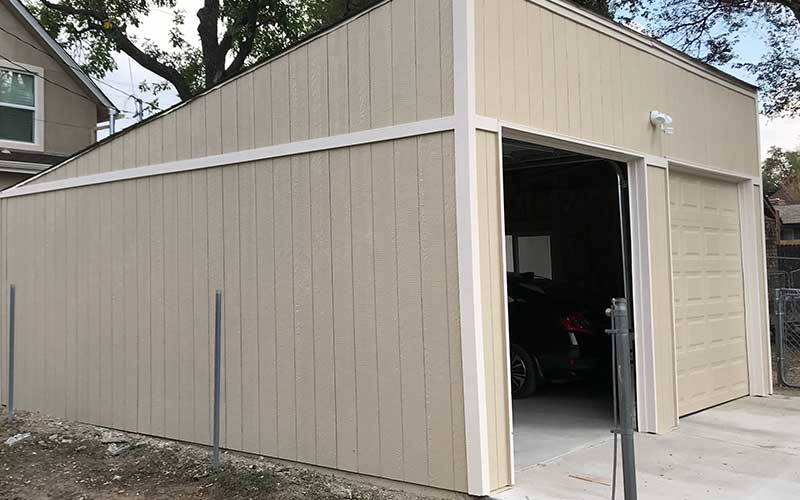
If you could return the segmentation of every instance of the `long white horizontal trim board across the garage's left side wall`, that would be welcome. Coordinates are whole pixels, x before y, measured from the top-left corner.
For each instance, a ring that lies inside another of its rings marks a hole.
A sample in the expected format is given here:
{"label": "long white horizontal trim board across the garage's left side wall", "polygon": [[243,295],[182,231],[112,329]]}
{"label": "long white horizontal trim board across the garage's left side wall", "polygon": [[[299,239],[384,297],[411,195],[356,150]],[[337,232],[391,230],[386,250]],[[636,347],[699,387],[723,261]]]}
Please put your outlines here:
{"label": "long white horizontal trim board across the garage's left side wall", "polygon": [[313,153],[315,151],[326,151],[350,146],[358,146],[362,144],[391,141],[407,137],[444,132],[453,130],[454,128],[454,117],[450,116],[445,118],[435,118],[432,120],[394,125],[391,127],[363,130],[350,134],[290,142],[288,144],[279,144],[257,149],[248,149],[245,151],[223,153],[220,155],[204,156],[202,158],[158,163],[144,167],[114,170],[111,172],[42,182],[40,184],[21,184],[16,188],[12,188],[0,193],[0,198],[13,198],[15,196],[24,196],[34,193],[45,193],[48,191],[91,186],[94,184],[105,184],[108,182],[151,177],[154,175],[172,174],[176,172],[186,172],[211,167],[221,167],[236,163],[246,163],[250,161],[267,160],[270,158],[280,158],[283,156]]}

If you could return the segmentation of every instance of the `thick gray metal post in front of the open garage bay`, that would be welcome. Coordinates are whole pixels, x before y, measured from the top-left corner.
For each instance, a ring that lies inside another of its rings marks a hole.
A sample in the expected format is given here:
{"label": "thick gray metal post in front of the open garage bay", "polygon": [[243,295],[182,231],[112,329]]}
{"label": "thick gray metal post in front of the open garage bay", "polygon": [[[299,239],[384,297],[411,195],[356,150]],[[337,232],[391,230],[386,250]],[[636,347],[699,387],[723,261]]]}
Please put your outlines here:
{"label": "thick gray metal post in front of the open garage bay", "polygon": [[633,374],[631,373],[631,343],[627,301],[623,298],[614,299],[612,314],[617,352],[617,379],[619,381],[619,432],[622,438],[623,488],[625,500],[636,500],[636,457],[633,443],[635,410],[633,405]]}

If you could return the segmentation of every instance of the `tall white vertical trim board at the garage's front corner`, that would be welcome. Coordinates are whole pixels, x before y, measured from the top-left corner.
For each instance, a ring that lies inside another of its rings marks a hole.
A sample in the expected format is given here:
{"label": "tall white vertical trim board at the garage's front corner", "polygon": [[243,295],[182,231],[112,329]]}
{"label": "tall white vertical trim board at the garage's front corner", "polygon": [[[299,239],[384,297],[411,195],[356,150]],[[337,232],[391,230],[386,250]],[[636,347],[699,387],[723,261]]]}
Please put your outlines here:
{"label": "tall white vertical trim board at the garage's front corner", "polygon": [[455,104],[456,227],[461,321],[461,362],[464,377],[464,425],[467,490],[486,496],[489,476],[489,430],[483,317],[480,300],[480,241],[475,130],[475,4],[453,2],[453,79]]}

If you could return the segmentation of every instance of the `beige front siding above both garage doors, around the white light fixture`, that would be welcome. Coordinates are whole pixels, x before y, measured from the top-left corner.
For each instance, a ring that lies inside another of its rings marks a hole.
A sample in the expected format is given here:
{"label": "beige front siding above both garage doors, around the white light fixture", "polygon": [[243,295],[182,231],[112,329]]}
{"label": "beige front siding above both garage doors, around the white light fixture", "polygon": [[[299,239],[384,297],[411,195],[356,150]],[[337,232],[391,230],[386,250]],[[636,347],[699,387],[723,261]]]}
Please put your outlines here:
{"label": "beige front siding above both garage doors, around the white light fixture", "polygon": [[[476,0],[481,115],[758,175],[754,96],[541,0]],[[649,123],[669,113],[675,134]]]}

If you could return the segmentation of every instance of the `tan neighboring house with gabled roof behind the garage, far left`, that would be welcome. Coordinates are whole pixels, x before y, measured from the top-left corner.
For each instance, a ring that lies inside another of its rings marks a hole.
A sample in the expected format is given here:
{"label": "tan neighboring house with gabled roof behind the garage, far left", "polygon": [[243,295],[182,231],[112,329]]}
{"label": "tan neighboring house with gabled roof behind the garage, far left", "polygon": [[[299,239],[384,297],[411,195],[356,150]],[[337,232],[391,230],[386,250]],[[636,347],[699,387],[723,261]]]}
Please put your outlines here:
{"label": "tan neighboring house with gabled roof behind the garage, far left", "polygon": [[19,0],[0,0],[0,189],[95,142],[114,105]]}

